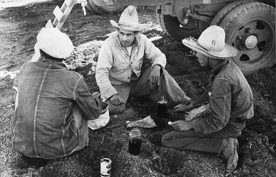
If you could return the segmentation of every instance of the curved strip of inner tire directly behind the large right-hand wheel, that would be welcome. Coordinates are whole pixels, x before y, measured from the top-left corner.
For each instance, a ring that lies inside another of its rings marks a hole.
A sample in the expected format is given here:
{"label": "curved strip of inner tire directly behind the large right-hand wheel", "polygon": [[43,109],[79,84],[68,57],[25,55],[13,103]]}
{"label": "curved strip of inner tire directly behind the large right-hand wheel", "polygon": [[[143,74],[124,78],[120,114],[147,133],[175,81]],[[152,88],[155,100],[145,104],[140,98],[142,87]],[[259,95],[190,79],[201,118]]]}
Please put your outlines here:
{"label": "curved strip of inner tire directly behind the large right-hand wheel", "polygon": [[220,23],[223,21],[226,15],[228,15],[232,10],[234,10],[236,7],[243,5],[245,3],[250,3],[250,2],[258,2],[254,0],[243,0],[243,1],[234,1],[232,3],[229,3],[226,5],[224,8],[222,8],[216,16],[213,18],[212,22],[210,23],[210,26],[212,25],[217,25],[219,26]]}

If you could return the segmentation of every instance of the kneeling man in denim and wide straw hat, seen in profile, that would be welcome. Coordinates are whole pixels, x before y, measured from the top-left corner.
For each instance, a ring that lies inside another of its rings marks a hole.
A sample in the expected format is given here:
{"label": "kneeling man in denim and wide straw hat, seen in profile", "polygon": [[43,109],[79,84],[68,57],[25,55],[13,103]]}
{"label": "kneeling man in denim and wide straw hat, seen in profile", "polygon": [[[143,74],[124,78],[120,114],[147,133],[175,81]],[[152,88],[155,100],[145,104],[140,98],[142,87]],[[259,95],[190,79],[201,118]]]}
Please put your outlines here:
{"label": "kneeling man in denim and wide straw hat, seen in profile", "polygon": [[[212,67],[210,88],[189,105],[179,104],[176,112],[193,109],[209,102],[210,115],[193,121],[178,120],[171,123],[175,129],[162,138],[164,146],[203,152],[212,157],[222,155],[227,169],[236,169],[238,140],[246,119],[253,117],[253,95],[238,66],[227,58],[238,50],[225,43],[225,32],[219,26],[210,26],[198,40],[186,38],[182,43],[197,51],[201,66]],[[184,119],[184,118],[183,118]]]}

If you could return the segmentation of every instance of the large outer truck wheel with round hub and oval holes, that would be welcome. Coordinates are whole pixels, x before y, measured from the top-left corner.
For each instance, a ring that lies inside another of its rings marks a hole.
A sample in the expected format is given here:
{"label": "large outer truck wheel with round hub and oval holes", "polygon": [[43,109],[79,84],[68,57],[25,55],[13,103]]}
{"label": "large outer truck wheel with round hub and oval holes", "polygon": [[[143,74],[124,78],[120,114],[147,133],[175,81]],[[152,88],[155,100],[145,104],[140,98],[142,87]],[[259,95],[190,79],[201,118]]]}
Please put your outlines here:
{"label": "large outer truck wheel with round hub and oval holes", "polygon": [[225,31],[225,42],[238,49],[231,59],[244,75],[275,63],[275,8],[251,2],[229,12],[219,24]]}

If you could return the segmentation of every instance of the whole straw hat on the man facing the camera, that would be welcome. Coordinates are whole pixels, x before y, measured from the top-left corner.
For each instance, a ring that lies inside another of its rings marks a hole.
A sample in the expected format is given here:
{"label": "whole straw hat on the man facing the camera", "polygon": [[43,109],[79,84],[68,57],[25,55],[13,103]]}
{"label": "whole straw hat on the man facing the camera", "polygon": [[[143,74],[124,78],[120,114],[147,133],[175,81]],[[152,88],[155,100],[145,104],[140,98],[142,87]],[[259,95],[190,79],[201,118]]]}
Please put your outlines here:
{"label": "whole straw hat on the man facing the camera", "polygon": [[110,20],[111,25],[116,28],[126,31],[141,31],[145,28],[144,25],[138,23],[138,14],[136,8],[129,5],[121,14],[119,23],[114,20]]}

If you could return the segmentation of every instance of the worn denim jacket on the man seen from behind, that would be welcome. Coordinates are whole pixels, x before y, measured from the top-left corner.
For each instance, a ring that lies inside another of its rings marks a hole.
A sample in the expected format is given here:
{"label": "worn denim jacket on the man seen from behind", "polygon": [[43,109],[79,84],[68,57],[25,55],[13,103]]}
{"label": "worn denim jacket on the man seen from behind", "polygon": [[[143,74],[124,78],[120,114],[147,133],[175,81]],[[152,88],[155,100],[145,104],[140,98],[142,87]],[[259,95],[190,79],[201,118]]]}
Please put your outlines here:
{"label": "worn denim jacket on the man seen from behind", "polygon": [[[18,106],[12,119],[12,147],[30,157],[51,159],[72,153],[84,143],[87,120],[98,118],[102,111],[83,76],[68,71],[62,62],[45,58],[27,62],[14,85],[18,87]],[[86,120],[80,128],[69,116],[73,104]]]}

